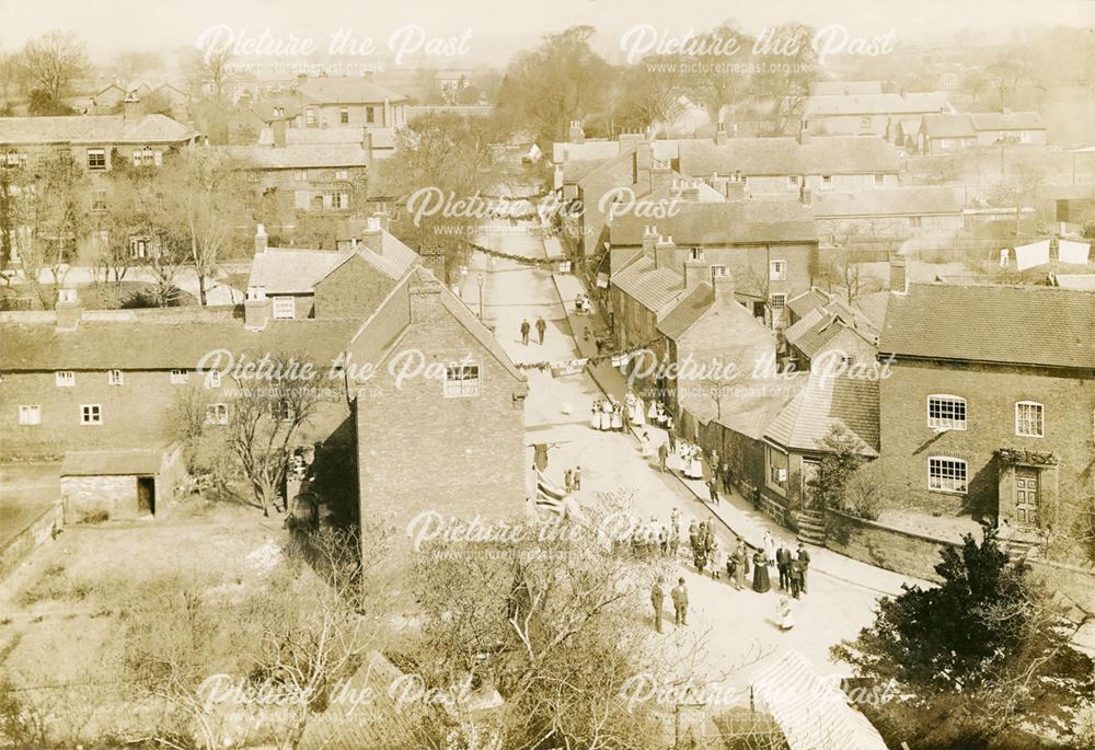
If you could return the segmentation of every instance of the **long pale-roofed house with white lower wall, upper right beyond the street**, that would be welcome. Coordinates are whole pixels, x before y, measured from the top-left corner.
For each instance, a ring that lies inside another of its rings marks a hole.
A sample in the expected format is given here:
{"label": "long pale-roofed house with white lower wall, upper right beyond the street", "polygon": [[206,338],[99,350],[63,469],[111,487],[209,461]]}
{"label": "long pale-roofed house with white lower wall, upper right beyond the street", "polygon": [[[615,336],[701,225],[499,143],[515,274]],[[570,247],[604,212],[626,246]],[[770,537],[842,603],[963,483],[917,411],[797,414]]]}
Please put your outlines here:
{"label": "long pale-roofed house with white lower wall, upper right beyond the street", "polygon": [[881,138],[727,138],[679,141],[677,170],[717,184],[735,177],[747,195],[798,196],[805,191],[897,187],[900,159]]}

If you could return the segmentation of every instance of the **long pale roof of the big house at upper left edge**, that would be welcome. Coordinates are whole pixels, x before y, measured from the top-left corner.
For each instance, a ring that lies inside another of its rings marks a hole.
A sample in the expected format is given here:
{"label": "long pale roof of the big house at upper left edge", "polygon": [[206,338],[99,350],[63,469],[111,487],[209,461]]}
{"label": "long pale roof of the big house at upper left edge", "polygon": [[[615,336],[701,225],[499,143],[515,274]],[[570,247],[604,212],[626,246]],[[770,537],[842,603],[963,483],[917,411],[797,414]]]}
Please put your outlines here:
{"label": "long pale roof of the big house at upper left edge", "polygon": [[0,117],[0,143],[181,143],[197,132],[166,115]]}

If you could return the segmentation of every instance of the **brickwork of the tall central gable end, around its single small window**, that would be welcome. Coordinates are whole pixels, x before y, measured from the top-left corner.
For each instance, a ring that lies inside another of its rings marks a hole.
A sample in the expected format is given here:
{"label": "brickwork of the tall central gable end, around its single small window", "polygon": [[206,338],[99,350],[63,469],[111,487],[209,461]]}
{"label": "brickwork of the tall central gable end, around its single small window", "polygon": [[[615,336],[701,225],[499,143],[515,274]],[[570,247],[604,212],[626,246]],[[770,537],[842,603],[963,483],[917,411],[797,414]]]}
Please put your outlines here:
{"label": "brickwork of the tall central gable end, around its single small window", "polygon": [[[412,293],[414,322],[357,396],[358,472],[362,519],[393,514],[396,543],[422,511],[486,520],[525,512],[526,384],[440,304]],[[470,357],[480,365],[481,395],[445,397],[439,378],[402,384],[404,353],[427,365]]]}

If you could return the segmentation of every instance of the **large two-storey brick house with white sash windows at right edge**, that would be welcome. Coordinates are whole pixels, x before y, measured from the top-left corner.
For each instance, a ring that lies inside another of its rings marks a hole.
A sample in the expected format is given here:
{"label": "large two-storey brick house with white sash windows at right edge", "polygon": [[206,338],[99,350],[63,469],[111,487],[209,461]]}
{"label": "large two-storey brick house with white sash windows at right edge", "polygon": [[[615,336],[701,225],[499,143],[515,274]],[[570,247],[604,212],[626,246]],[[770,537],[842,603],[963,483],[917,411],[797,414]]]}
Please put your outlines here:
{"label": "large two-storey brick house with white sash windows at right edge", "polygon": [[[1090,510],[1095,293],[909,285],[879,342],[887,489],[910,509],[1045,529]],[[1085,499],[1086,498],[1086,499]]]}

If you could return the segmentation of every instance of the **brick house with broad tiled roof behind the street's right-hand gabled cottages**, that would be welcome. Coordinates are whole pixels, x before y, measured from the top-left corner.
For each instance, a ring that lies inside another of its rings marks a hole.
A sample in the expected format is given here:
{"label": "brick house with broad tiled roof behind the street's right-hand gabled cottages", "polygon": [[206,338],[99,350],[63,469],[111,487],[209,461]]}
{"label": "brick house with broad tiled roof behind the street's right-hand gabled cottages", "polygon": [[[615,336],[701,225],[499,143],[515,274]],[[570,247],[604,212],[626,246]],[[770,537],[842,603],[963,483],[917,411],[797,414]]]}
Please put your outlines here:
{"label": "brick house with broad tiled roof behind the street's right-hand gabled cottages", "polygon": [[664,236],[659,257],[681,275],[687,259],[733,274],[737,299],[772,327],[783,325],[787,299],[808,290],[817,274],[817,228],[796,200],[683,201],[656,227],[619,217],[609,231],[613,267],[649,252],[648,234],[647,245]]}

